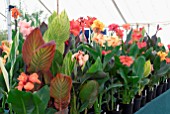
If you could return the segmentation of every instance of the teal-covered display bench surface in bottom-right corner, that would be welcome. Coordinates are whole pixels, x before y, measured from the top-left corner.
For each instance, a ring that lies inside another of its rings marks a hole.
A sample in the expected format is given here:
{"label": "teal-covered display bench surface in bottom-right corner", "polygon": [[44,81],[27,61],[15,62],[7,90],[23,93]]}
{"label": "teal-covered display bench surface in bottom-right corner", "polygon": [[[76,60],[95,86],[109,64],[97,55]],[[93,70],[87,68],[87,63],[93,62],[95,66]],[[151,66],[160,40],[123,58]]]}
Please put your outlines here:
{"label": "teal-covered display bench surface in bottom-right corner", "polygon": [[170,89],[147,103],[135,114],[170,114]]}

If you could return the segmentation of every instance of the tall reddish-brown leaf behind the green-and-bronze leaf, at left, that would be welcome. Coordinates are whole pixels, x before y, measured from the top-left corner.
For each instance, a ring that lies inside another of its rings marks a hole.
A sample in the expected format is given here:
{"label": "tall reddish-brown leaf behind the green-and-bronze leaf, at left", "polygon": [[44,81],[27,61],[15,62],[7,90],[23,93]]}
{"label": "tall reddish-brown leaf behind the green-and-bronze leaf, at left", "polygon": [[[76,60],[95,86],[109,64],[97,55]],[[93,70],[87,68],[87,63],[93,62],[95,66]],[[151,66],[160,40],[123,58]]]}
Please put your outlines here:
{"label": "tall reddish-brown leaf behind the green-and-bronze leaf, at left", "polygon": [[35,28],[26,38],[22,48],[23,60],[26,65],[30,64],[34,51],[43,44],[45,44],[45,42],[42,38],[41,31],[39,28]]}

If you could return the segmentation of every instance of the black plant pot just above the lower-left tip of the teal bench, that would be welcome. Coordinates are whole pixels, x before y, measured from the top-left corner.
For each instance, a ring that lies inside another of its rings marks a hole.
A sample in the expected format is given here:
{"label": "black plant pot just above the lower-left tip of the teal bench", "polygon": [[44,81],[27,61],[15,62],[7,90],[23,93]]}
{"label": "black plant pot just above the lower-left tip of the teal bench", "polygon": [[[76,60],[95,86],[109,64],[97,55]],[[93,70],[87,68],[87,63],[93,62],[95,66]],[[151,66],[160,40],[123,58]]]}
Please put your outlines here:
{"label": "black plant pot just above the lower-left tip of the teal bench", "polygon": [[142,96],[136,96],[134,99],[133,112],[136,112],[141,107]]}

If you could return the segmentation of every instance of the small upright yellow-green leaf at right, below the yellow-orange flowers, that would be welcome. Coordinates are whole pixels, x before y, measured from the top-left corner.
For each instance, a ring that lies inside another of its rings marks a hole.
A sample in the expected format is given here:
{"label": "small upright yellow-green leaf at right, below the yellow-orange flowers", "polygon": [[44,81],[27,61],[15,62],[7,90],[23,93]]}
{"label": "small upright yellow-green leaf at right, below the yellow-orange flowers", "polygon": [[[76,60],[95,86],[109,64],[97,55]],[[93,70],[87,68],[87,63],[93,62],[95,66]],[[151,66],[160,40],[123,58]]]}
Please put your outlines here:
{"label": "small upright yellow-green leaf at right, below the yellow-orange flowers", "polygon": [[148,77],[149,76],[149,74],[151,73],[151,67],[152,67],[152,65],[151,65],[151,62],[150,62],[150,60],[148,60],[148,61],[146,61],[145,62],[145,67],[144,67],[144,77]]}

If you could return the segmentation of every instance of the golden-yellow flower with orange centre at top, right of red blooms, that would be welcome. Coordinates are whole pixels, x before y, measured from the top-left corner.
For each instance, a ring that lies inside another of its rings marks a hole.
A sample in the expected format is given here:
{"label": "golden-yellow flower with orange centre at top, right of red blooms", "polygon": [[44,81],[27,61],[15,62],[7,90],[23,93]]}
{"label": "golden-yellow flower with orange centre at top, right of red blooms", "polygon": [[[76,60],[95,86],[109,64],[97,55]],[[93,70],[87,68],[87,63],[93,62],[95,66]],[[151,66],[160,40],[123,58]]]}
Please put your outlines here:
{"label": "golden-yellow flower with orange centre at top, right of red blooms", "polygon": [[104,30],[104,24],[96,19],[93,21],[91,28],[95,33],[100,33],[101,31]]}

